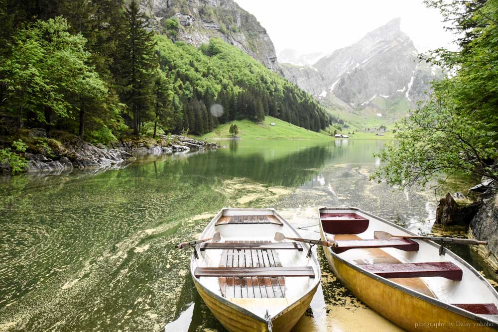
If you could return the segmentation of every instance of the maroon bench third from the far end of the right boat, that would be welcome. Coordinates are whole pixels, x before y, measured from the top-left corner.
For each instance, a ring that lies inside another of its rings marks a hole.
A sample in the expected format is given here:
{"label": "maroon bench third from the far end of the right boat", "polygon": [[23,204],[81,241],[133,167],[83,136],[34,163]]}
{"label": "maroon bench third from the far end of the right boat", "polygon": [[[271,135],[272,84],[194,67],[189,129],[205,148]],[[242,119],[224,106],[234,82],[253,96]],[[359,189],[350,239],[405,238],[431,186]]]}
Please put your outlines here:
{"label": "maroon bench third from the far end of the right boat", "polygon": [[383,278],[443,277],[462,280],[462,269],[452,262],[383,263],[358,265]]}

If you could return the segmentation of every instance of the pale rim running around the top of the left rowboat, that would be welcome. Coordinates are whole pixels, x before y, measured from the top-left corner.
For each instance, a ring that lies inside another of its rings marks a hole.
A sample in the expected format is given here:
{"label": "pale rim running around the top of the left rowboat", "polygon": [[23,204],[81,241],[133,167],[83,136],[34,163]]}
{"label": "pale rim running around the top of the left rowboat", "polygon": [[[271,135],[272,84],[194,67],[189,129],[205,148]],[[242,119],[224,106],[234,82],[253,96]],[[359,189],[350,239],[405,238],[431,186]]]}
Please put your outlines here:
{"label": "pale rim running around the top of the left rowboat", "polygon": [[[298,237],[301,237],[302,236],[297,232],[297,230],[294,228],[294,226],[292,226],[288,221],[286,221],[285,219],[283,219],[276,211],[275,209],[273,208],[268,208],[268,209],[243,209],[243,208],[222,208],[220,210],[220,212],[218,212],[216,214],[216,216],[213,217],[213,219],[206,225],[206,227],[204,228],[204,231],[202,232],[202,236],[204,236],[204,232],[210,228],[211,226],[215,227],[215,223],[216,221],[218,221],[218,219],[220,219],[220,217],[222,217],[224,215],[224,212],[227,211],[227,210],[231,210],[231,211],[271,211],[273,215],[275,215],[278,219],[280,219],[280,221],[282,221],[283,223],[287,224],[289,226],[290,229],[292,229],[292,231],[298,236]],[[301,243],[303,247],[306,247],[308,250],[309,250],[309,244],[305,243],[305,242],[302,242]],[[304,252],[304,249],[303,248],[303,252]],[[197,250],[197,248],[194,248],[194,250]],[[316,255],[312,254],[311,257],[313,257],[313,262],[316,264],[315,267],[316,267],[316,271],[315,269],[313,269],[315,271],[315,283],[312,285],[311,289],[309,292],[307,292],[306,294],[303,294],[303,296],[301,296],[299,299],[297,299],[296,301],[290,303],[287,307],[285,307],[285,309],[283,309],[282,311],[280,311],[279,313],[277,313],[276,315],[274,315],[271,320],[274,321],[275,319],[277,319],[278,317],[280,317],[282,314],[284,314],[286,312],[286,310],[290,307],[293,307],[296,303],[300,302],[303,298],[305,298],[306,296],[308,296],[311,292],[313,292],[313,290],[315,290],[316,292],[316,289],[318,288],[318,284],[320,283],[321,281],[321,268],[320,268],[320,263],[318,262],[318,259],[316,257]],[[225,299],[224,297],[222,296],[219,296],[218,294],[212,292],[211,290],[207,289],[206,287],[204,287],[204,285],[202,285],[202,283],[200,282],[199,278],[197,278],[194,274],[194,268],[193,268],[193,263],[195,261],[195,257],[194,257],[194,254],[192,253],[192,256],[190,257],[190,275],[192,276],[192,279],[194,280],[194,283],[198,284],[202,289],[203,291],[205,291],[208,295],[212,296],[213,298],[215,298],[216,300],[220,301],[221,303],[223,303],[224,305],[226,305],[227,307],[230,307],[234,310],[237,310],[251,318],[254,318],[262,323],[265,323],[266,321],[264,320],[263,317],[259,317],[257,316],[256,314],[250,312],[249,310],[245,309],[244,307],[241,307],[241,306],[238,306],[236,305],[235,303]]]}

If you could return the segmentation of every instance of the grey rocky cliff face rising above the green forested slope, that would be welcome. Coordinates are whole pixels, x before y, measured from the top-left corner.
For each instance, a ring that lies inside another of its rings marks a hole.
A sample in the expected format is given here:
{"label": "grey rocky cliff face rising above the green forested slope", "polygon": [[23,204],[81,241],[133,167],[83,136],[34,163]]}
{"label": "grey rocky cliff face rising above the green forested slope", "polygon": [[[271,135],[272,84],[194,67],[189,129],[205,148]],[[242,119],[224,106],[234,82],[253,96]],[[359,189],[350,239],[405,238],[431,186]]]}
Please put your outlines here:
{"label": "grey rocky cliff face rising above the green forested slope", "polygon": [[220,37],[268,69],[279,72],[275,47],[257,19],[233,0],[146,0],[159,28],[171,17],[178,18],[178,40],[200,46]]}

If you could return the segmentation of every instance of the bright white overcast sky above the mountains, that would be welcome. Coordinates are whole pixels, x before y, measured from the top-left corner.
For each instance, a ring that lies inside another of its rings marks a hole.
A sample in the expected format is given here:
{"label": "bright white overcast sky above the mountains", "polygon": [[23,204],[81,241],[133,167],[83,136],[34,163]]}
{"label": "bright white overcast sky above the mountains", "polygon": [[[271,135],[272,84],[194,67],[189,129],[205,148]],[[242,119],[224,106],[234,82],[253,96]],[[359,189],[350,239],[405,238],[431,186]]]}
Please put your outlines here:
{"label": "bright white overcast sky above the mountains", "polygon": [[299,53],[330,53],[348,46],[367,32],[401,17],[419,52],[448,47],[454,39],[446,32],[436,9],[422,0],[235,0],[256,16],[275,44]]}

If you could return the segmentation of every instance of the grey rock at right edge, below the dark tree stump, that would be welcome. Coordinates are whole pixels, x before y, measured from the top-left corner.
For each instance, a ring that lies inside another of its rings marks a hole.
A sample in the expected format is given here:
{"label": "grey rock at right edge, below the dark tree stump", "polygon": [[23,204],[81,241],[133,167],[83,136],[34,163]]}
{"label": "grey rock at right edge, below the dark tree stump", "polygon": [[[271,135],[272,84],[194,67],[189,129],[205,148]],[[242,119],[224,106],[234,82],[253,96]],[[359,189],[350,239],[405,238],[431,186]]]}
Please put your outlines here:
{"label": "grey rock at right edge, below the dark tree stump", "polygon": [[498,195],[491,197],[472,219],[469,234],[480,241],[488,241],[486,246],[474,246],[498,270]]}

